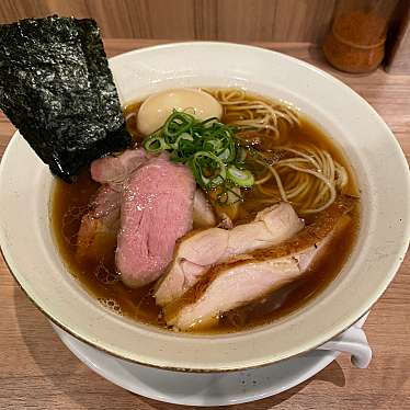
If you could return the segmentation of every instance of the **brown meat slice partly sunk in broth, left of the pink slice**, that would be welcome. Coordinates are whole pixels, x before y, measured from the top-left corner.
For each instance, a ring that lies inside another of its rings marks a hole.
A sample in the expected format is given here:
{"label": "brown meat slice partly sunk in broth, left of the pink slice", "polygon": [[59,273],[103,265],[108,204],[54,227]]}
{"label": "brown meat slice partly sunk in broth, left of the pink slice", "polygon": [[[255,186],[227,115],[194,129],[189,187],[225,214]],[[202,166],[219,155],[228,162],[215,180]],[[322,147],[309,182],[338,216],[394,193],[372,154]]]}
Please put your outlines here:
{"label": "brown meat slice partly sunk in broth, left of the pink slice", "polygon": [[99,262],[107,250],[115,250],[119,228],[121,194],[110,185],[102,185],[81,218],[77,235],[76,254],[81,260]]}

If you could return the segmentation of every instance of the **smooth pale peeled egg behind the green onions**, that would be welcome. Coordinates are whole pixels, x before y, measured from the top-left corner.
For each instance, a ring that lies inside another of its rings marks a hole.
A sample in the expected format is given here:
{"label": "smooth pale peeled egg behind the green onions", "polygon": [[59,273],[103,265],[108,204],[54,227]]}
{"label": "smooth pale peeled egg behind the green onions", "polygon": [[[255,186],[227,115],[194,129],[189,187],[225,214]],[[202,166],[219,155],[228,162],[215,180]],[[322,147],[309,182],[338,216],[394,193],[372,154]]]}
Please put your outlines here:
{"label": "smooth pale peeled egg behind the green onions", "polygon": [[153,94],[138,111],[137,127],[144,135],[160,128],[172,111],[186,111],[198,119],[223,116],[223,106],[207,92],[198,89],[178,89]]}

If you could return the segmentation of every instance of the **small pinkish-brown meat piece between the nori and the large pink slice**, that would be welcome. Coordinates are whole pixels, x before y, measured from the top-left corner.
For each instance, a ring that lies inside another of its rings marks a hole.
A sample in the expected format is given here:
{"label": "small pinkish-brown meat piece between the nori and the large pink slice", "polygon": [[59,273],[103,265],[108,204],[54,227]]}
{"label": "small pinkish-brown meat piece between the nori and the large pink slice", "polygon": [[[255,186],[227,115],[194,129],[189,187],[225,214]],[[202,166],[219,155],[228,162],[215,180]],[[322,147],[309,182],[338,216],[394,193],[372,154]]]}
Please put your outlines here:
{"label": "small pinkish-brown meat piece between the nori and the large pink slice", "polygon": [[118,156],[107,156],[91,162],[91,178],[101,184],[122,187],[122,183],[139,167],[148,161],[143,148],[127,149]]}

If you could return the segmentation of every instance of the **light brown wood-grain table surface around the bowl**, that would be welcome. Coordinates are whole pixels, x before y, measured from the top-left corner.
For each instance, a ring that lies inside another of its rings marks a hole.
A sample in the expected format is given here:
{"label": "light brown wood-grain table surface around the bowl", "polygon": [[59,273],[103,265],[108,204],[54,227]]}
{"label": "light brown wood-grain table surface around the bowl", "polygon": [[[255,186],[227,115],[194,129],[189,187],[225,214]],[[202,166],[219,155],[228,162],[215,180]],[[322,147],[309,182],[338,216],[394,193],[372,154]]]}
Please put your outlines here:
{"label": "light brown wood-grain table surface around the bowl", "polygon": [[[110,39],[109,56],[158,44]],[[381,69],[366,76],[332,70],[309,44],[258,44],[309,61],[364,96],[390,126],[410,156],[410,77]],[[0,114],[0,157],[15,128]],[[1,212],[1,210],[0,210]],[[79,362],[32,305],[0,259],[0,409],[176,409],[133,395]],[[374,358],[354,368],[346,355],[314,378],[281,395],[240,409],[410,409],[410,258],[365,324]]]}

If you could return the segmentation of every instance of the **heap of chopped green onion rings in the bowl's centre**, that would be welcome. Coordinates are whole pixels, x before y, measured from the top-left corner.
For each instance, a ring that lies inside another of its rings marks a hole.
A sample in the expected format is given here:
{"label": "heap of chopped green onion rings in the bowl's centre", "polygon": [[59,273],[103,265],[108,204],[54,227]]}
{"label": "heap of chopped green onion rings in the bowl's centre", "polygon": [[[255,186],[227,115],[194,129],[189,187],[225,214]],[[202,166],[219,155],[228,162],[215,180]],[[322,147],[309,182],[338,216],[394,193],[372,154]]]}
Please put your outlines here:
{"label": "heap of chopped green onion rings in the bowl's centre", "polygon": [[239,146],[237,132],[218,118],[200,121],[173,111],[161,128],[144,139],[143,147],[152,153],[170,151],[173,161],[191,168],[204,190],[217,190],[219,204],[230,204],[242,200],[240,187],[254,183],[252,172],[244,168],[248,149]]}

